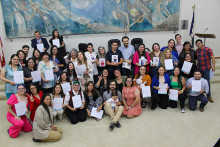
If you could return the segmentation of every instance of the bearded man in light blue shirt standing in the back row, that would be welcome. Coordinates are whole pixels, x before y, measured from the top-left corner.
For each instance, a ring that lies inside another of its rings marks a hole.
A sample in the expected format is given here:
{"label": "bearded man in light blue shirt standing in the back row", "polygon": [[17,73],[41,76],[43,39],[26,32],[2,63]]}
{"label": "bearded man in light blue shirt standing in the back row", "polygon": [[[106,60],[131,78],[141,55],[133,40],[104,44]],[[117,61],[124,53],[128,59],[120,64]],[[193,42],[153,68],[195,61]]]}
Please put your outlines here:
{"label": "bearded man in light blue shirt standing in the back row", "polygon": [[128,43],[129,38],[127,36],[122,37],[121,41],[122,41],[123,45],[120,46],[118,48],[118,50],[120,50],[122,52],[122,55],[124,57],[124,62],[126,62],[128,65],[131,65],[130,69],[122,67],[122,75],[124,75],[124,76],[133,75],[131,63],[132,63],[133,55],[135,53],[134,47]]}

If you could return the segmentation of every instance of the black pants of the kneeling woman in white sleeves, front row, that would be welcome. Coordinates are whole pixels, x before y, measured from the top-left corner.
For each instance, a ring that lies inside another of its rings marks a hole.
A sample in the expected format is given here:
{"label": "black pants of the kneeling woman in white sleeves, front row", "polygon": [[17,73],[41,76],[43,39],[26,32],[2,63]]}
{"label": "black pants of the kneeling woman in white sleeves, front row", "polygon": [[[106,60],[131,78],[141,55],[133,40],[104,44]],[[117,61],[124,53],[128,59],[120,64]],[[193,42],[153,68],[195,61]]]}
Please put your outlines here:
{"label": "black pants of the kneeling woman in white sleeves, front row", "polygon": [[77,124],[78,122],[86,121],[87,113],[86,109],[79,109],[77,108],[76,111],[66,109],[66,114],[72,124]]}

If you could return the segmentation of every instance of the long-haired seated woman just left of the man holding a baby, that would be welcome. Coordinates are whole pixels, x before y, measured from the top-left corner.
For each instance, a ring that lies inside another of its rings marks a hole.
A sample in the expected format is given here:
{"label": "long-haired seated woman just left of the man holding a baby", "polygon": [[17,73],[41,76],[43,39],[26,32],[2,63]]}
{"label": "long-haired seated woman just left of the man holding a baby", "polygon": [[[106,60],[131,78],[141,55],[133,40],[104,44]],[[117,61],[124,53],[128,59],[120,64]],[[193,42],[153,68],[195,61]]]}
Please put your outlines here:
{"label": "long-haired seated woman just left of the man holding a baby", "polygon": [[[100,112],[102,109],[103,99],[100,96],[99,92],[96,90],[94,83],[89,81],[86,85],[86,89],[84,91],[84,96],[86,100],[86,110],[87,114],[91,116],[91,112],[93,108],[97,108],[97,112]],[[96,118],[97,121],[100,119]]]}

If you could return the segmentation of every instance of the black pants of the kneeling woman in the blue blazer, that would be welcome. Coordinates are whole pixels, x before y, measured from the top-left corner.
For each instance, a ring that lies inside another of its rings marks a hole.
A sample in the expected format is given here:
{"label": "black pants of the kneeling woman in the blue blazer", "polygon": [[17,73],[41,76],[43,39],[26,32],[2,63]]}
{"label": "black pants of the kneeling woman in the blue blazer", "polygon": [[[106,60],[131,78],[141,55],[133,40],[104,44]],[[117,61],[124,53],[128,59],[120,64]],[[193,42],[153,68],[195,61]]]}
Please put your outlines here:
{"label": "black pants of the kneeling woman in the blue blazer", "polygon": [[157,104],[159,105],[160,108],[166,109],[168,107],[168,100],[169,97],[167,94],[158,94],[152,92],[151,94],[151,109],[157,108]]}

